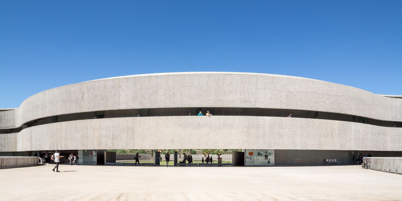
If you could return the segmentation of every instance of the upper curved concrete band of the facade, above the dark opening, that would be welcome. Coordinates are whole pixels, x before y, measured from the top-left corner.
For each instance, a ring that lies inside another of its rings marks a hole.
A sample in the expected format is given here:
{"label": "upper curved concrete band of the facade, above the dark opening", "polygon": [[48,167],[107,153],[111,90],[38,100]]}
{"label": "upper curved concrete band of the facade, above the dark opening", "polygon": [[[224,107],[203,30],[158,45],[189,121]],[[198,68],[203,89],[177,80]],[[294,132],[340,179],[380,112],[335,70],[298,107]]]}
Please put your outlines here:
{"label": "upper curved concrete band of the facade, above the dark opening", "polygon": [[0,129],[54,115],[165,107],[299,109],[402,121],[400,98],[308,78],[201,72],[124,76],[52,88],[15,110],[0,111]]}

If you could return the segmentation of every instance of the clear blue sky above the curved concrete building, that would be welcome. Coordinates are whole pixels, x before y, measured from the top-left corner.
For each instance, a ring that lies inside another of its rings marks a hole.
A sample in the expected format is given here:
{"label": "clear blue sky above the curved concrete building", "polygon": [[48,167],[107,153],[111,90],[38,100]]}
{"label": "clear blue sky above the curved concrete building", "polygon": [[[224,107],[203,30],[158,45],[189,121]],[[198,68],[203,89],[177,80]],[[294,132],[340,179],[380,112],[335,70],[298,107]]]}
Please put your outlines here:
{"label": "clear blue sky above the curved concrete building", "polygon": [[132,74],[282,74],[402,94],[402,1],[0,1],[0,108]]}

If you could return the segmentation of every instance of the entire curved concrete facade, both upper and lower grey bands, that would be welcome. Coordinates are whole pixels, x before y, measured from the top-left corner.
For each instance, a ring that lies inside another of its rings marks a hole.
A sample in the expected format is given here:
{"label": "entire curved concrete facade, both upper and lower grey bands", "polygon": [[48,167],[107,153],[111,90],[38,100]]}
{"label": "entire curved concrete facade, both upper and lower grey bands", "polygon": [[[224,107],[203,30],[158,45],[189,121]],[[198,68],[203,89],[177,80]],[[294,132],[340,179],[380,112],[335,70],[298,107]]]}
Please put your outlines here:
{"label": "entire curved concrete facade, both upper and lower grey bands", "polygon": [[[324,111],[402,121],[402,99],[271,74],[168,73],[70,84],[0,111],[0,129],[54,115],[143,108],[242,107]],[[402,151],[402,128],[258,116],[87,119],[0,134],[0,152],[85,149],[291,149]],[[72,140],[73,139],[73,140]]]}

